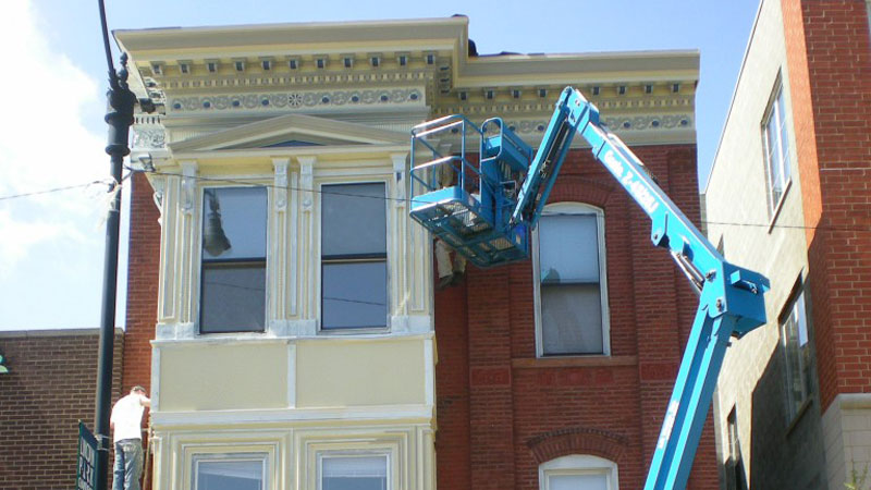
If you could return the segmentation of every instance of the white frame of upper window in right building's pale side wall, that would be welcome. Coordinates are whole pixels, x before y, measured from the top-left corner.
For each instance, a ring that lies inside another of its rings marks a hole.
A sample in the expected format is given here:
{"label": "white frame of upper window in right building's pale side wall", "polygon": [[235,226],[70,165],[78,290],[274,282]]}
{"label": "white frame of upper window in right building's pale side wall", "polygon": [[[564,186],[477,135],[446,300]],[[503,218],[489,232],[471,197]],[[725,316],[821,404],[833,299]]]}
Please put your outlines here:
{"label": "white frame of upper window in right building's pale side wall", "polygon": [[[782,120],[782,117],[785,120]],[[778,159],[777,162],[770,161],[771,152],[769,151],[769,123],[771,122],[772,118],[774,118],[775,126],[777,127],[776,139],[778,150],[776,155],[774,155],[774,157]],[[765,167],[765,199],[768,201],[769,218],[772,220],[776,218],[777,212],[781,209],[781,206],[783,206],[784,199],[786,198],[786,193],[793,183],[793,150],[790,143],[793,139],[793,128],[789,124],[790,118],[789,107],[786,102],[786,91],[784,90],[783,82],[778,76],[777,82],[774,84],[774,89],[771,93],[771,99],[765,108],[765,113],[762,117],[762,123],[760,126],[762,135],[762,160]],[[784,131],[781,130],[782,127],[785,127],[786,140],[783,140]],[[777,172],[783,181],[781,195],[776,199],[774,195],[773,172]]]}

